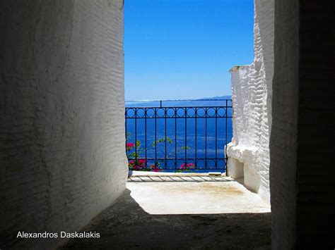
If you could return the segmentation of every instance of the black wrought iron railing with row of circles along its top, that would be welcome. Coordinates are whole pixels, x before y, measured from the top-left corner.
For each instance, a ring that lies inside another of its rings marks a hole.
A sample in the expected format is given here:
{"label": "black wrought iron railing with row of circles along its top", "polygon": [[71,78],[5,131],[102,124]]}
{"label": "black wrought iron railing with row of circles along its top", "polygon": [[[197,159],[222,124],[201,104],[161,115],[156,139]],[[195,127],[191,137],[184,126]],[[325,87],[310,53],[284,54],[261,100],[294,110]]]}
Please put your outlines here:
{"label": "black wrought iron railing with row of circles along its top", "polygon": [[232,137],[230,99],[126,104],[129,170],[225,172],[225,145]]}

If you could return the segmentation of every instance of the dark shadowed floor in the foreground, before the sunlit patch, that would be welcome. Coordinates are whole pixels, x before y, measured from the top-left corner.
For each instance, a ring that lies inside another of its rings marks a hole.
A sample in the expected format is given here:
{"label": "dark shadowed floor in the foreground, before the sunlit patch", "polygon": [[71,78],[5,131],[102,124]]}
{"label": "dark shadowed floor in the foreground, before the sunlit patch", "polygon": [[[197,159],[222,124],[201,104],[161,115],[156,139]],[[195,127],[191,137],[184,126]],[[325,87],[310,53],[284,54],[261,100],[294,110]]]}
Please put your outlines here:
{"label": "dark shadowed floor in the foreground, before the sunlit patch", "polygon": [[129,189],[83,231],[61,249],[271,249],[270,213],[151,215]]}

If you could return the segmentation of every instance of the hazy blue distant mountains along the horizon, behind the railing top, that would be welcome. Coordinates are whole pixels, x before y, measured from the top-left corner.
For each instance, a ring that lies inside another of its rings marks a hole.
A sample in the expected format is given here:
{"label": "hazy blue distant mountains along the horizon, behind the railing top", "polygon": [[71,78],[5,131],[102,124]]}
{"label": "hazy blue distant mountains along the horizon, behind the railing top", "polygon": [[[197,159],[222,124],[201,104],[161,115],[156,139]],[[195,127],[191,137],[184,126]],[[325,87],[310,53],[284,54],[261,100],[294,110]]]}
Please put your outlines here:
{"label": "hazy blue distant mountains along the horizon, behind the railing top", "polygon": [[[226,101],[217,100],[230,100],[231,96],[215,96],[210,98],[202,98],[196,100],[167,100],[162,101],[163,107],[176,107],[176,106],[225,106]],[[228,101],[228,105],[231,102]],[[160,101],[126,101],[126,107],[159,107]]]}

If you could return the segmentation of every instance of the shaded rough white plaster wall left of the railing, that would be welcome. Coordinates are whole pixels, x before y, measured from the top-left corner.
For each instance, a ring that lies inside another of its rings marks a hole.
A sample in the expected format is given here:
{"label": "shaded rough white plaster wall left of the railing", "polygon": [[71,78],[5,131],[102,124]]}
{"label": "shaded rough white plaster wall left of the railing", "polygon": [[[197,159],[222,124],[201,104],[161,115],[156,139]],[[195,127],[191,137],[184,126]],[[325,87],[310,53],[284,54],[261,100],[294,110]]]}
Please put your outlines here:
{"label": "shaded rough white plaster wall left of the railing", "polygon": [[122,1],[1,1],[0,248],[64,239],[125,189]]}

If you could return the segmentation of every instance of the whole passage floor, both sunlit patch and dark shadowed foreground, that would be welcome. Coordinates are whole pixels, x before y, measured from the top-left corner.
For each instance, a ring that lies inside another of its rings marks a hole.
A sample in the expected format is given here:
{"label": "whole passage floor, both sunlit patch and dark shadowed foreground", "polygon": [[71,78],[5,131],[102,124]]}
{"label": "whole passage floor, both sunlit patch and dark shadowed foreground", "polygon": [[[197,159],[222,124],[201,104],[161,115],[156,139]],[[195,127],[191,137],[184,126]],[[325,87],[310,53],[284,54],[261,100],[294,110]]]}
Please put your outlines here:
{"label": "whole passage floor, both sunlit patch and dark shadowed foreground", "polygon": [[239,183],[156,177],[129,178],[124,194],[83,229],[100,239],[72,239],[62,249],[271,249],[270,208]]}

